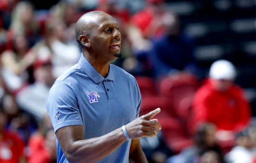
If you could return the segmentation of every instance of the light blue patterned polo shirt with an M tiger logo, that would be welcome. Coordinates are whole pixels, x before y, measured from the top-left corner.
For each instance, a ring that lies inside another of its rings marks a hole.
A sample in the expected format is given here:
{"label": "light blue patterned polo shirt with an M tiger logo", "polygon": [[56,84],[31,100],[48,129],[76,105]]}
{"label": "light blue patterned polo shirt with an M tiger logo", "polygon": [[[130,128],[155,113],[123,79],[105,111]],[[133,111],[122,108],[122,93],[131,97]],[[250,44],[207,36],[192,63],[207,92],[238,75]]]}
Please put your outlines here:
{"label": "light blue patterned polo shirt with an M tiger logo", "polygon": [[[81,56],[79,63],[53,84],[46,108],[55,132],[68,125],[83,125],[84,139],[99,137],[139,116],[141,95],[135,78],[110,64],[107,78]],[[126,141],[99,163],[128,163],[131,141]],[[57,162],[68,163],[58,140]]]}

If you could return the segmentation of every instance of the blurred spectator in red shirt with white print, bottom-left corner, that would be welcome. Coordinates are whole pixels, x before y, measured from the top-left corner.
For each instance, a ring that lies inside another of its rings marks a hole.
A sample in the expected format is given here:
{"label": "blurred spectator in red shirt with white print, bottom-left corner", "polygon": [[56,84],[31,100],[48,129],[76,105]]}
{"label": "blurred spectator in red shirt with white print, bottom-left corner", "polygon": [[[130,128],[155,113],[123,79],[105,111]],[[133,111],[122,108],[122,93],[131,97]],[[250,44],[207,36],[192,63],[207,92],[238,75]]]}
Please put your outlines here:
{"label": "blurred spectator in red shirt with white print, bottom-left corner", "polygon": [[17,134],[5,129],[7,114],[0,109],[0,162],[25,163],[24,142]]}

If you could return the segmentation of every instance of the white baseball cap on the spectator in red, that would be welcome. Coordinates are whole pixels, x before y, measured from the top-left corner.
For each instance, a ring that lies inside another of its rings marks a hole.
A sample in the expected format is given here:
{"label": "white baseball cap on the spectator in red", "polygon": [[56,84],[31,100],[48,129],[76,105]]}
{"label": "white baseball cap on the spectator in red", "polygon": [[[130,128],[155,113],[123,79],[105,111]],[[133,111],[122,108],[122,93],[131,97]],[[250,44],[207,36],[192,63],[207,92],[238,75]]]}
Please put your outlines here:
{"label": "white baseball cap on the spectator in red", "polygon": [[227,60],[218,60],[212,63],[209,76],[212,79],[233,81],[236,77],[236,68],[234,64]]}

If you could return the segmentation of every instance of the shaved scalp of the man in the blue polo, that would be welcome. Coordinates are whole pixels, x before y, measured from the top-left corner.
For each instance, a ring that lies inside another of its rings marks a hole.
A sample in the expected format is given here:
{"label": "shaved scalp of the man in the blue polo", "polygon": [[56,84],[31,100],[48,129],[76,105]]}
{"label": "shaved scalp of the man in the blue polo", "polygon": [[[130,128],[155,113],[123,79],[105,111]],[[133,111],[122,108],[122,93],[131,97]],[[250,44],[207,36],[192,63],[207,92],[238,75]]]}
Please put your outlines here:
{"label": "shaved scalp of the man in the blue polo", "polygon": [[79,39],[80,35],[87,34],[88,30],[89,30],[88,29],[89,23],[92,22],[93,20],[95,20],[95,18],[99,17],[99,15],[102,13],[105,13],[105,12],[102,12],[102,11],[87,12],[87,13],[83,14],[83,16],[81,16],[79,18],[79,20],[76,22],[75,38],[81,48],[83,47],[83,45],[81,44],[80,39]]}

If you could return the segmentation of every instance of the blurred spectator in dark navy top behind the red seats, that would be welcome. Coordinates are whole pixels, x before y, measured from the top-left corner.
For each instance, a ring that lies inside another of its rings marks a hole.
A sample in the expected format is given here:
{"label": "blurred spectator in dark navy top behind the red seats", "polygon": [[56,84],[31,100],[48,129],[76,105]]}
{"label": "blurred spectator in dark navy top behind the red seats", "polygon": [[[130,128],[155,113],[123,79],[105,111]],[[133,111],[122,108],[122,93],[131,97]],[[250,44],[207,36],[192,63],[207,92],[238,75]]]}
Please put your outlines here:
{"label": "blurred spectator in dark navy top behind the red seats", "polygon": [[165,34],[153,40],[153,49],[149,52],[150,65],[154,70],[154,77],[188,71],[198,74],[194,59],[194,44],[180,29],[179,18],[168,15],[164,23]]}

